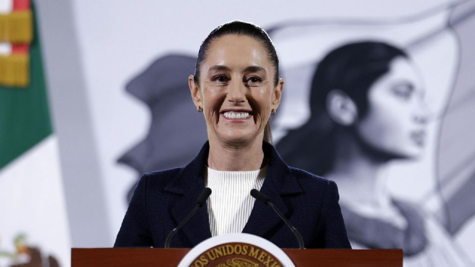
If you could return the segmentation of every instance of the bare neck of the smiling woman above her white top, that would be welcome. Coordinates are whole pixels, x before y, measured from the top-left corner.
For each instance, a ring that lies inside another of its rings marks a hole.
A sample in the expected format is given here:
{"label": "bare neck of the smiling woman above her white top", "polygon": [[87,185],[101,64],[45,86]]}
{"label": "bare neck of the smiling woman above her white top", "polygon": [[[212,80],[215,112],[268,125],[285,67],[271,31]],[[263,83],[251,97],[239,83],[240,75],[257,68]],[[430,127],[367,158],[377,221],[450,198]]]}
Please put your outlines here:
{"label": "bare neck of the smiling woman above her white top", "polygon": [[256,171],[265,165],[262,138],[229,143],[209,138],[208,167],[218,171]]}

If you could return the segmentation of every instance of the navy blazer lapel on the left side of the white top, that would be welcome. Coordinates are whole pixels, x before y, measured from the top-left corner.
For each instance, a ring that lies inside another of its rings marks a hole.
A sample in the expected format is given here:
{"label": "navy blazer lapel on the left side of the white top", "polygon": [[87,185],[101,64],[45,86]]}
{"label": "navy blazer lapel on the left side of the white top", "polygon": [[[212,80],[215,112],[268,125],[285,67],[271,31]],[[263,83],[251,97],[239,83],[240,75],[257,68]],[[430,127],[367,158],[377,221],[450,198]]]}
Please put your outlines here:
{"label": "navy blazer lapel on the left side of the white top", "polygon": [[[179,223],[196,206],[196,200],[199,194],[204,189],[204,166],[205,160],[208,157],[209,145],[206,142],[201,148],[196,158],[190,162],[179,175],[170,181],[165,187],[165,191],[173,193],[176,197],[170,198],[172,227],[175,228]],[[175,201],[173,201],[175,200]],[[192,246],[197,245],[201,241],[211,237],[209,228],[208,210],[206,205],[199,208],[190,221],[185,223],[183,227],[178,230],[190,241]],[[171,245],[173,246],[172,241]]]}

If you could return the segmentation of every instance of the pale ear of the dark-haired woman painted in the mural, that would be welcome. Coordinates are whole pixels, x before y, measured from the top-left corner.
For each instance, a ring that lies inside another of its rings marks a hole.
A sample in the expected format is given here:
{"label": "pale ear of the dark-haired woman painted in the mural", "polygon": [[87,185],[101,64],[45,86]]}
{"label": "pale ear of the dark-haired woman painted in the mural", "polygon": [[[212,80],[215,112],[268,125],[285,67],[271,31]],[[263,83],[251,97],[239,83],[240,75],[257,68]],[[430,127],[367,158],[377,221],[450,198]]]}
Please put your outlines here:
{"label": "pale ear of the dark-haired woman painted in the mural", "polygon": [[348,94],[332,89],[327,95],[327,112],[337,124],[350,126],[358,117],[358,108]]}

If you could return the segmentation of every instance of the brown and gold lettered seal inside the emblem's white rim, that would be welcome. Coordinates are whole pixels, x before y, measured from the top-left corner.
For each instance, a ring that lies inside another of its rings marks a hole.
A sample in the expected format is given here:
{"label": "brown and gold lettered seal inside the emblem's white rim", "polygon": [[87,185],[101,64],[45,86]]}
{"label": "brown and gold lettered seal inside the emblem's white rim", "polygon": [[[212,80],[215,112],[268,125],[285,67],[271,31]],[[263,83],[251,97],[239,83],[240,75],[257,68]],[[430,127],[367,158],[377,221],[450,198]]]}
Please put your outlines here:
{"label": "brown and gold lettered seal inside the emblem's white rim", "polygon": [[190,267],[283,267],[283,264],[261,247],[233,242],[206,250]]}

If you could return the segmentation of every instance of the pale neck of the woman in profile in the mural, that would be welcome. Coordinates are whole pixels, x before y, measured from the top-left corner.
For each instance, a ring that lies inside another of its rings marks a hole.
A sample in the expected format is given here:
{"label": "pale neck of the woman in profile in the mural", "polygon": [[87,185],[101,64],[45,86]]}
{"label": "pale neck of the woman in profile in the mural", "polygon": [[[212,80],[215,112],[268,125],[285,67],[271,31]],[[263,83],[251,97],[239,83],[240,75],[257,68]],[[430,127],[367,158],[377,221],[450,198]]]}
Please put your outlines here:
{"label": "pale neck of the woman in profile in the mural", "polygon": [[335,162],[326,177],[337,183],[343,202],[384,208],[391,199],[386,186],[386,166],[387,160],[375,158],[353,136],[340,135]]}

